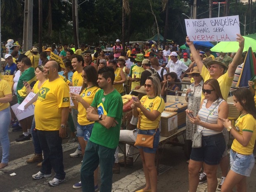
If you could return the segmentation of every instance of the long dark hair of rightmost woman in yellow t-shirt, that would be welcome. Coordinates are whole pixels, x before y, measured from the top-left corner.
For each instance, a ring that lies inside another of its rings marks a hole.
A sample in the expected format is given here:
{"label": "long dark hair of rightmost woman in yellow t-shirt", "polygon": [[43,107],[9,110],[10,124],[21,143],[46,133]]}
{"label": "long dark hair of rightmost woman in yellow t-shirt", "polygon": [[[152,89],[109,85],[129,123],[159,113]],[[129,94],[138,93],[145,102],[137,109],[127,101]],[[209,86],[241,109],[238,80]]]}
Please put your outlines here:
{"label": "long dark hair of rightmost woman in yellow t-shirt", "polygon": [[251,114],[254,119],[256,119],[256,107],[254,102],[254,97],[251,94],[251,91],[247,88],[239,88],[232,92],[233,96],[241,104],[244,110]]}

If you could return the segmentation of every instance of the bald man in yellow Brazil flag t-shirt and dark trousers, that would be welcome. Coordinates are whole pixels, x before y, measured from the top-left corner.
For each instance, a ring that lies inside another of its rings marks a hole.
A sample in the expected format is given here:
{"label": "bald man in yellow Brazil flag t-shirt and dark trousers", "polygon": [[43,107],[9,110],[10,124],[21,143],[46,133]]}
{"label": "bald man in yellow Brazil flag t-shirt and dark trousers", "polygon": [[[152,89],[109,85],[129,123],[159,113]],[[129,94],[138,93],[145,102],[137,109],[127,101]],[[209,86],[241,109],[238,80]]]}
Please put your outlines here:
{"label": "bald man in yellow Brazil flag t-shirt and dark trousers", "polygon": [[[40,171],[32,178],[41,179],[52,176],[52,186],[64,181],[66,173],[63,165],[62,138],[66,136],[66,122],[69,114],[69,86],[58,75],[58,64],[49,61],[43,74],[48,80],[40,88],[35,108],[36,130],[43,149],[44,160]],[[42,114],[43,112],[43,114]]]}

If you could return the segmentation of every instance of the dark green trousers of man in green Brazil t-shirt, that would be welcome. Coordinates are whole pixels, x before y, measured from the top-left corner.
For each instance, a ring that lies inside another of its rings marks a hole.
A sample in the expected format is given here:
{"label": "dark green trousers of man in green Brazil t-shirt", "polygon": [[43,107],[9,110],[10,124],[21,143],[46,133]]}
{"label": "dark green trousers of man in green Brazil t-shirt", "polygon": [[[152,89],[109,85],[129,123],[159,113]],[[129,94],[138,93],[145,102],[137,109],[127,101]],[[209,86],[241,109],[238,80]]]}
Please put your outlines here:
{"label": "dark green trousers of man in green Brazil t-shirt", "polygon": [[115,162],[115,149],[110,149],[94,142],[88,141],[81,166],[81,182],[83,192],[94,192],[93,172],[100,164],[100,192],[111,192],[112,167]]}

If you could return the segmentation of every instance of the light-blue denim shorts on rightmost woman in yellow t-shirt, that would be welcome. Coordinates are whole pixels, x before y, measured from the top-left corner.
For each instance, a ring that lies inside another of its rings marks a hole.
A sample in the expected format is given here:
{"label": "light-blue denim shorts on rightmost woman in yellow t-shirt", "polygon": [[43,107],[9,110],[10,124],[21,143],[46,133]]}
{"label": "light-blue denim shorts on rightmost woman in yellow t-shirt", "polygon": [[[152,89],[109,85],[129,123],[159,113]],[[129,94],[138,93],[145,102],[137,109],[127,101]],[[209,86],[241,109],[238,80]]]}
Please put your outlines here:
{"label": "light-blue denim shorts on rightmost woman in yellow t-shirt", "polygon": [[235,173],[249,177],[254,163],[254,154],[242,155],[230,149],[230,169]]}

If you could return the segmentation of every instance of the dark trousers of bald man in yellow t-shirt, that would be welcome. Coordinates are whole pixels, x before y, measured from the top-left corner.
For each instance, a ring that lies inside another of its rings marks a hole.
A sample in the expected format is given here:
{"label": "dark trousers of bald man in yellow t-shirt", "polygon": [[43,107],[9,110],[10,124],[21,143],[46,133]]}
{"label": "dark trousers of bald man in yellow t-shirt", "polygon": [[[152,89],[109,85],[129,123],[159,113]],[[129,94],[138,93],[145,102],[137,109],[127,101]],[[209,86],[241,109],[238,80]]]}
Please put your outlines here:
{"label": "dark trousers of bald man in yellow t-shirt", "polygon": [[53,170],[57,179],[64,179],[63,153],[62,153],[62,138],[59,137],[59,130],[46,131],[37,130],[40,145],[43,149],[43,162],[41,172],[50,174]]}

